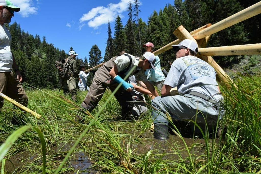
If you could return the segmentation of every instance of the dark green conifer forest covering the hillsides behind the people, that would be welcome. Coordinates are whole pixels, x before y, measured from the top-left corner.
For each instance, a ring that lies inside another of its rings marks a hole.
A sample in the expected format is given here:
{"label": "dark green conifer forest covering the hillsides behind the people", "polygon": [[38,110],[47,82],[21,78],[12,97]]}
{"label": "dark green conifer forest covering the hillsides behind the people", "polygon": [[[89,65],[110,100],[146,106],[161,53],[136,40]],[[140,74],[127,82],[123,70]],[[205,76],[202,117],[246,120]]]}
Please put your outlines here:
{"label": "dark green conifer forest covering the hillsides behind the people", "polygon": [[[175,0],[174,4],[166,4],[164,9],[155,9],[149,19],[139,18],[142,11],[139,10],[140,3],[135,1],[134,5],[129,4],[129,18],[124,25],[121,18],[117,16],[114,26],[108,22],[108,38],[104,59],[101,51],[93,41],[93,47],[89,51],[89,65],[93,67],[102,61],[106,61],[116,56],[120,51],[126,51],[132,55],[140,56],[144,49],[142,45],[147,42],[154,44],[154,51],[162,46],[176,40],[173,31],[183,25],[189,32],[207,23],[216,23],[245,9],[259,0]],[[159,10],[159,13],[157,11]],[[254,16],[248,20],[238,23],[232,27],[224,29],[211,36],[207,47],[241,45],[250,43],[261,43],[259,34],[261,15]],[[57,70],[54,67],[56,60],[66,58],[68,50],[59,50],[55,43],[47,43],[45,36],[31,35],[21,29],[16,22],[7,25],[12,35],[12,52],[16,62],[20,67],[23,82],[33,86],[44,88],[60,87]],[[114,29],[114,30],[113,30]],[[42,39],[40,39],[42,38]],[[86,50],[87,52],[88,50]],[[169,69],[169,63],[173,62],[174,54],[172,50],[159,55],[161,66]],[[255,63],[260,63],[260,57],[252,56],[215,56],[213,57],[223,68],[232,68],[234,64],[240,64],[244,59],[254,59]],[[259,62],[258,62],[259,60]],[[88,64],[87,58],[84,60],[77,58],[77,67],[80,64]],[[247,67],[245,68],[247,70]],[[93,74],[89,76],[91,82]],[[27,87],[24,84],[24,87]]]}

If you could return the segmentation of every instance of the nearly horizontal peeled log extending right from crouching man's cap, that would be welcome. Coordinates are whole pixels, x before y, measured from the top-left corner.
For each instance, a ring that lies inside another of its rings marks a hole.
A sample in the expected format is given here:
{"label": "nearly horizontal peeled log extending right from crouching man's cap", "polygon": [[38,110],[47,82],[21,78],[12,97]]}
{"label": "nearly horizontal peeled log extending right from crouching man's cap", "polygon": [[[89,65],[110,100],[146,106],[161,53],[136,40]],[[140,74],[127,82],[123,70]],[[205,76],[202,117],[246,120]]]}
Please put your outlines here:
{"label": "nearly horizontal peeled log extending right from crouching man's cap", "polygon": [[261,44],[200,48],[199,56],[260,55]]}

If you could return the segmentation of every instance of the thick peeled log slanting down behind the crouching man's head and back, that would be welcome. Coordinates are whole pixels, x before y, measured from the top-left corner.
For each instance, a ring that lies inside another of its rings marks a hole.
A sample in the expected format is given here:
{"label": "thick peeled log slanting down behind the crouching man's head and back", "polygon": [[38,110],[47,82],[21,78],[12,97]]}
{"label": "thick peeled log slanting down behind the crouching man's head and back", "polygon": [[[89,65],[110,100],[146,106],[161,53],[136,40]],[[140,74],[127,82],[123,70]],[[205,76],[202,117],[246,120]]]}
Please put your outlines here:
{"label": "thick peeled log slanting down behind the crouching man's head and back", "polygon": [[[180,40],[184,39],[191,39],[194,40],[195,43],[197,41],[192,37],[192,35],[183,27],[179,26],[175,31],[174,34],[179,38]],[[204,43],[203,43],[204,44]],[[198,56],[201,58],[201,56]],[[204,59],[206,61],[206,57],[202,57],[201,59]],[[207,57],[207,63],[209,63],[217,72],[217,81],[219,83],[223,82],[228,88],[231,88],[231,84],[234,84],[233,80],[230,79],[230,77],[226,74],[226,72],[214,61],[214,59],[210,56]],[[237,86],[235,86],[237,88]]]}

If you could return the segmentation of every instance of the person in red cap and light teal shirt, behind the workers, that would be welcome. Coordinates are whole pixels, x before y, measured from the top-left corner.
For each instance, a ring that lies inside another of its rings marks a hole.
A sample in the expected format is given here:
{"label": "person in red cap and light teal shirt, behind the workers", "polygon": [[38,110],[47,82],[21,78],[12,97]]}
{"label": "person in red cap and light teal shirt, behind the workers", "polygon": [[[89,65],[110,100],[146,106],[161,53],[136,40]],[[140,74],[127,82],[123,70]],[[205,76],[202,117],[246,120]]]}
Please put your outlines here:
{"label": "person in red cap and light teal shirt, behind the workers", "polygon": [[[144,44],[143,47],[145,48],[146,52],[153,52],[154,45],[151,42]],[[164,84],[165,76],[161,70],[161,62],[159,60],[159,56],[155,56],[155,58],[155,69],[147,69],[145,73],[149,82],[152,85],[157,86],[159,91],[161,91],[161,88]]]}

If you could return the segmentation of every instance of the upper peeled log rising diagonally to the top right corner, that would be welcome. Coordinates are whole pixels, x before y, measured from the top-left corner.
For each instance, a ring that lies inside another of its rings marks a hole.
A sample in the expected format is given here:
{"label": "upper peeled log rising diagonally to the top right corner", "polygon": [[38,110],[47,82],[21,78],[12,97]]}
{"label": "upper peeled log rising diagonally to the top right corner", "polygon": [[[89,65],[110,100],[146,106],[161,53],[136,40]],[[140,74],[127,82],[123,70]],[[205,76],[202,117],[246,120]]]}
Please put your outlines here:
{"label": "upper peeled log rising diagonally to the top right corner", "polygon": [[202,39],[206,36],[219,32],[225,28],[228,28],[232,25],[235,25],[239,22],[242,22],[253,16],[256,16],[260,13],[261,13],[261,1],[254,5],[251,5],[250,7],[246,8],[244,10],[239,11],[238,13],[236,13],[232,16],[227,17],[226,19],[223,19],[222,21],[219,21],[219,22],[213,24],[210,27],[207,27],[207,28],[199,31],[198,33],[192,34],[192,36],[196,40]]}

